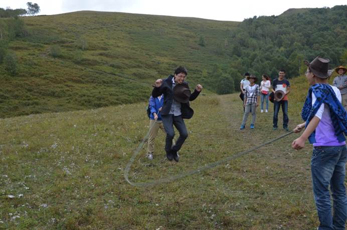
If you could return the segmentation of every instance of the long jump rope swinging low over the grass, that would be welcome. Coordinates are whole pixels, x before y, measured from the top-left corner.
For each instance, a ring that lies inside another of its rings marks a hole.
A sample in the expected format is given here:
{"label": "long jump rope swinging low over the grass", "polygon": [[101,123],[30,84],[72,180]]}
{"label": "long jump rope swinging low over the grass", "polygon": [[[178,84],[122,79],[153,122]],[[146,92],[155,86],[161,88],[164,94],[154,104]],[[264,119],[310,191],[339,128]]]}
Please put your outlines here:
{"label": "long jump rope swinging low over the grass", "polygon": [[156,179],[156,180],[150,180],[150,181],[147,181],[147,182],[133,182],[133,181],[130,181],[130,179],[129,179],[130,167],[131,167],[132,163],[134,162],[136,156],[139,154],[140,150],[142,149],[143,144],[146,141],[146,139],[148,138],[149,133],[150,133],[151,129],[153,128],[154,124],[155,124],[155,122],[152,124],[152,126],[150,126],[146,136],[142,139],[142,141],[140,142],[140,144],[138,145],[138,147],[136,148],[136,150],[132,154],[129,162],[126,164],[126,167],[124,169],[124,178],[125,178],[125,180],[129,184],[131,184],[133,186],[138,186],[138,187],[153,186],[153,185],[158,185],[158,184],[161,184],[161,183],[171,182],[173,180],[177,180],[177,179],[180,179],[180,178],[183,178],[183,177],[186,177],[186,176],[189,176],[189,175],[193,175],[193,174],[196,174],[196,173],[200,173],[200,172],[205,171],[205,170],[207,170],[209,168],[216,167],[216,166],[218,166],[218,165],[220,165],[222,163],[225,163],[225,162],[230,161],[232,159],[235,159],[235,158],[238,158],[240,156],[243,156],[243,155],[245,155],[245,154],[247,154],[247,153],[249,153],[251,151],[254,151],[254,150],[258,149],[258,148],[261,148],[261,147],[263,147],[263,146],[265,146],[265,145],[267,145],[269,143],[272,143],[272,142],[274,142],[276,140],[279,140],[279,139],[281,139],[281,138],[283,138],[283,137],[293,133],[293,131],[287,132],[287,133],[285,133],[285,134],[283,134],[283,135],[281,135],[281,136],[279,136],[277,138],[269,140],[269,141],[267,141],[265,143],[262,143],[262,144],[260,144],[258,146],[250,148],[248,150],[245,150],[245,151],[242,151],[242,152],[238,152],[238,153],[233,154],[231,156],[228,156],[228,157],[226,157],[224,159],[218,160],[216,162],[207,164],[207,165],[202,166],[202,167],[198,167],[198,168],[196,168],[194,170],[191,170],[191,171],[188,171],[188,172],[184,172],[184,173],[181,173],[181,174],[178,174],[178,175],[173,175],[173,176],[170,176],[170,177],[167,177],[167,178],[160,178],[160,179]]}

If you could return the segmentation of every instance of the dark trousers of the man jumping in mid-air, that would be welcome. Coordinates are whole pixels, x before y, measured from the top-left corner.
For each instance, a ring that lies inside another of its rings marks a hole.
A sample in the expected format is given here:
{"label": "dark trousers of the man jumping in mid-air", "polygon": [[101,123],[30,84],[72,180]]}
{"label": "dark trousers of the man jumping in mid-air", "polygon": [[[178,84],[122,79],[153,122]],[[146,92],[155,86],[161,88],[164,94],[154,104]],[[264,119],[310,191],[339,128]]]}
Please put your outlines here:
{"label": "dark trousers of the man jumping in mid-air", "polygon": [[174,146],[172,146],[172,150],[178,151],[181,149],[182,144],[185,142],[188,137],[188,132],[186,128],[185,121],[182,118],[182,115],[174,116],[172,114],[161,115],[162,124],[164,125],[164,129],[166,132],[165,139],[165,151],[168,152],[171,150],[172,139],[175,136],[175,130],[173,130],[173,125],[179,130],[180,136],[177,139]]}

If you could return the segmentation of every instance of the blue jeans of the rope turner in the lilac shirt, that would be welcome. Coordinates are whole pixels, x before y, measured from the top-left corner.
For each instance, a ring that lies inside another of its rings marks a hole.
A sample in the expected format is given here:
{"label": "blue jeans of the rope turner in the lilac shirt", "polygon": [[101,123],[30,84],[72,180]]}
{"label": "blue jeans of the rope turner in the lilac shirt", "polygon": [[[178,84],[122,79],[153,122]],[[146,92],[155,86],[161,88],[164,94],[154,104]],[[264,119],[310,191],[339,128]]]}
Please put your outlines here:
{"label": "blue jeans of the rope turner in the lilac shirt", "polygon": [[[320,230],[344,229],[347,197],[344,187],[347,150],[341,146],[315,146],[311,158],[313,195],[320,221]],[[333,200],[331,213],[330,193]]]}

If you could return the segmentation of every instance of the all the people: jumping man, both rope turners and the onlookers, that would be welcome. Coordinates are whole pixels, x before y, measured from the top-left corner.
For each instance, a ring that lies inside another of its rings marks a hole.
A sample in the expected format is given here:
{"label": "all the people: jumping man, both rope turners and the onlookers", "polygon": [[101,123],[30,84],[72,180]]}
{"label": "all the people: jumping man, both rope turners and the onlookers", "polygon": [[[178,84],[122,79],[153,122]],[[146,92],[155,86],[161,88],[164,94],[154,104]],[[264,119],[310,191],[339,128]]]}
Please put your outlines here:
{"label": "all the people: jumping man, both rope turners and the onlookers", "polygon": [[[301,149],[308,139],[313,145],[311,157],[311,175],[313,195],[319,217],[318,229],[345,229],[347,218],[347,196],[345,192],[345,164],[347,149],[345,135],[347,135],[347,75],[346,68],[339,66],[335,71],[339,74],[329,85],[327,78],[331,74],[328,70],[329,59],[317,56],[311,62],[304,60],[307,65],[305,76],[310,84],[306,101],[303,105],[301,117],[303,123],[298,124],[293,131],[300,132],[300,137],[292,142],[292,148]],[[178,150],[188,136],[184,118],[193,116],[190,100],[197,98],[202,90],[198,84],[191,93],[185,81],[187,69],[179,67],[174,75],[166,79],[157,79],[150,97],[150,128],[148,141],[148,158],[153,158],[153,141],[159,128],[166,132],[165,151],[168,160],[179,161]],[[240,129],[244,129],[248,114],[252,112],[250,128],[255,127],[256,108],[261,98],[261,110],[268,112],[268,100],[274,103],[273,130],[277,129],[278,112],[282,107],[283,128],[288,129],[288,97],[290,83],[285,78],[285,70],[280,69],[278,77],[272,84],[266,74],[262,75],[260,85],[256,84],[257,77],[245,73],[241,81],[244,116]],[[271,92],[271,93],[270,93]],[[161,114],[160,114],[161,113]],[[180,136],[172,144],[175,132],[173,125],[179,130]],[[331,192],[331,196],[330,196]],[[331,211],[331,197],[333,211]]]}

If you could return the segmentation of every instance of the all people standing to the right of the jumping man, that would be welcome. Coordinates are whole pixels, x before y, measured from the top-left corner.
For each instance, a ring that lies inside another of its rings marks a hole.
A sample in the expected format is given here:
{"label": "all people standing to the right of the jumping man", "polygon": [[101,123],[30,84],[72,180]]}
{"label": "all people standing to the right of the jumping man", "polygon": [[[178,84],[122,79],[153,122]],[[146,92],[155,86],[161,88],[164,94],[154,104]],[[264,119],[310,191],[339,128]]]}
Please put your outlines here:
{"label": "all people standing to the right of the jumping man", "polygon": [[[328,84],[331,71],[328,70],[329,59],[317,56],[307,65],[305,76],[310,84],[301,116],[305,121],[298,124],[293,131],[300,132],[300,137],[292,142],[294,149],[304,147],[308,139],[313,145],[311,157],[311,175],[313,195],[320,221],[317,229],[345,229],[347,218],[347,196],[345,192],[345,164],[347,150],[345,135],[347,135],[347,75],[346,68],[338,66],[338,73],[333,85]],[[282,107],[283,128],[288,129],[288,97],[290,83],[285,79],[285,70],[281,69],[278,78],[273,79],[270,90],[269,78],[263,74],[260,86],[255,84],[254,75],[245,74],[241,80],[240,97],[243,99],[244,116],[240,129],[245,128],[247,116],[252,112],[250,128],[254,128],[256,108],[261,97],[261,112],[264,100],[268,101],[269,91],[274,103],[273,130],[277,129],[278,112]],[[265,112],[268,110],[266,107]],[[331,196],[330,196],[331,192]],[[331,197],[333,206],[331,211]]]}

